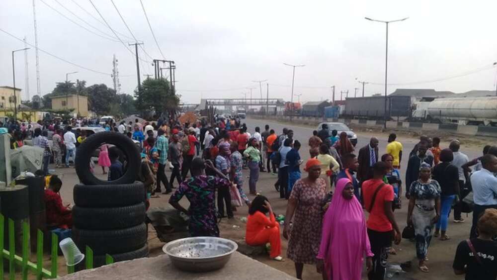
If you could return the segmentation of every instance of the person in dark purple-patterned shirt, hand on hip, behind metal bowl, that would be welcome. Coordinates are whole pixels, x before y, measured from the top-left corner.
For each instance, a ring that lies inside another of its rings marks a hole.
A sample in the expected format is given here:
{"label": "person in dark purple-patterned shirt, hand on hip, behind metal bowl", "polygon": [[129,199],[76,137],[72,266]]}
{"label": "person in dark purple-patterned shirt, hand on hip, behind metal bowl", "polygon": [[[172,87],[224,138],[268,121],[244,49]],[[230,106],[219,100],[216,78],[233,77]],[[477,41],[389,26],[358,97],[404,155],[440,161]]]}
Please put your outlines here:
{"label": "person in dark purple-patterned shirt, hand on hip, behind metal bowl", "polygon": [[[231,182],[215,176],[206,176],[205,166],[220,173],[214,168],[212,162],[208,161],[204,164],[201,158],[194,158],[190,167],[191,178],[181,183],[176,192],[169,198],[169,203],[190,217],[188,222],[190,236],[219,237],[215,204],[216,189],[228,188],[231,186]],[[190,201],[188,210],[178,203],[183,195],[186,195]]]}

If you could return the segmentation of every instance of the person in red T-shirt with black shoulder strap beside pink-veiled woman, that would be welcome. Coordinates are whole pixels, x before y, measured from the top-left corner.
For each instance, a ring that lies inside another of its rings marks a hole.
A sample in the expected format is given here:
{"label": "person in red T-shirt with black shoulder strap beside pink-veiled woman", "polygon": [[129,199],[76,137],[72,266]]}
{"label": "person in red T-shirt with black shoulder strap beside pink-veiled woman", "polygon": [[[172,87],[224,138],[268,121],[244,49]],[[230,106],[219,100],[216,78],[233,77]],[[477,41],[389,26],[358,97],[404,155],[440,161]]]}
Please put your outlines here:
{"label": "person in red T-shirt with black shoulder strap beside pink-veiled woman", "polygon": [[362,183],[364,207],[369,212],[367,221],[369,242],[373,257],[373,269],[368,273],[369,280],[382,280],[387,270],[388,251],[392,246],[392,236],[395,244],[401,242],[401,232],[392,211],[394,187],[385,184],[383,177],[388,167],[384,162],[373,165],[373,179]]}

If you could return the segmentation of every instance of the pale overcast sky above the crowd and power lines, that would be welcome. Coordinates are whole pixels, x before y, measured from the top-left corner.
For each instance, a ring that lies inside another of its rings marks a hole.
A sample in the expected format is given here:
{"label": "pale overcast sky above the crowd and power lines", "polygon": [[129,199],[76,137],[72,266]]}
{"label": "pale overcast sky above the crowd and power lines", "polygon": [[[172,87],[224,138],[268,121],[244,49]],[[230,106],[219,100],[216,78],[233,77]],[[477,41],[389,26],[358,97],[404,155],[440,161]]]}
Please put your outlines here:
{"label": "pale overcast sky above the crowd and power lines", "polygon": [[[366,85],[366,95],[383,93],[385,24],[365,16],[381,20],[410,17],[389,28],[388,83],[402,84],[389,85],[389,92],[396,88],[457,93],[495,88],[496,1],[142,1],[162,53],[176,63],[177,92],[187,103],[197,103],[201,96],[243,97],[249,87],[255,88],[252,93],[257,97],[258,84],[251,81],[266,79],[270,97],[289,100],[292,69],[283,63],[306,65],[296,71],[295,93],[302,93],[301,101],[331,99],[332,85],[337,96],[347,90],[352,96],[354,88],[361,88],[355,78],[371,83]],[[128,50],[119,42],[89,0],[35,2],[39,48],[103,73],[40,51],[42,94],[73,71],[79,73],[70,80],[111,87],[114,54],[119,59],[122,92],[134,91],[134,48]],[[110,0],[92,2],[124,44],[134,41]],[[114,3],[135,37],[144,42],[145,51],[163,59],[140,0]],[[1,0],[0,29],[0,85],[11,86],[11,51],[24,44],[3,31],[21,39],[25,36],[34,45],[32,0]],[[142,49],[139,54],[150,61]],[[15,54],[15,63],[16,86],[24,89],[23,52]],[[154,73],[150,63],[142,61],[140,67],[142,80],[143,74]],[[32,96],[36,94],[34,48],[28,50],[28,73]],[[456,76],[461,77],[447,79]],[[265,92],[264,87],[264,97]]]}

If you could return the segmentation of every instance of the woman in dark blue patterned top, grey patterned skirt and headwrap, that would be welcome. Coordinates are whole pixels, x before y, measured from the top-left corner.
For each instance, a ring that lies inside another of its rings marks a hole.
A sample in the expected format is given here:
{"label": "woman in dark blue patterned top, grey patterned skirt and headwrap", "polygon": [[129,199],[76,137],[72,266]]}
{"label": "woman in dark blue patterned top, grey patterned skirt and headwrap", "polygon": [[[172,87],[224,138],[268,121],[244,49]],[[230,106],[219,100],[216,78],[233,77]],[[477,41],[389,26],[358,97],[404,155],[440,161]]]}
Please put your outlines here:
{"label": "woman in dark blue patterned top, grey patterned skirt and headwrap", "polygon": [[433,227],[440,217],[440,194],[442,190],[435,180],[431,180],[431,167],[421,163],[419,179],[409,188],[408,225],[414,225],[416,256],[419,270],[429,272],[424,264],[428,246],[433,235]]}

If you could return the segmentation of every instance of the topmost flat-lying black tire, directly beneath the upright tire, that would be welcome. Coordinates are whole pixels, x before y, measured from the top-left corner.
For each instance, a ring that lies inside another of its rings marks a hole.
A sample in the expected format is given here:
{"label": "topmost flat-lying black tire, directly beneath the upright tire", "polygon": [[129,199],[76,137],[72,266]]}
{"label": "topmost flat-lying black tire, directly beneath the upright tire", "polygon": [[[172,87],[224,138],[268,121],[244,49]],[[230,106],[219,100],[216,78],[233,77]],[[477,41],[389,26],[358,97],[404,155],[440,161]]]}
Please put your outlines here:
{"label": "topmost flat-lying black tire, directly beneath the upright tire", "polygon": [[74,204],[80,207],[122,207],[145,202],[147,196],[143,183],[122,185],[83,185],[73,189]]}

